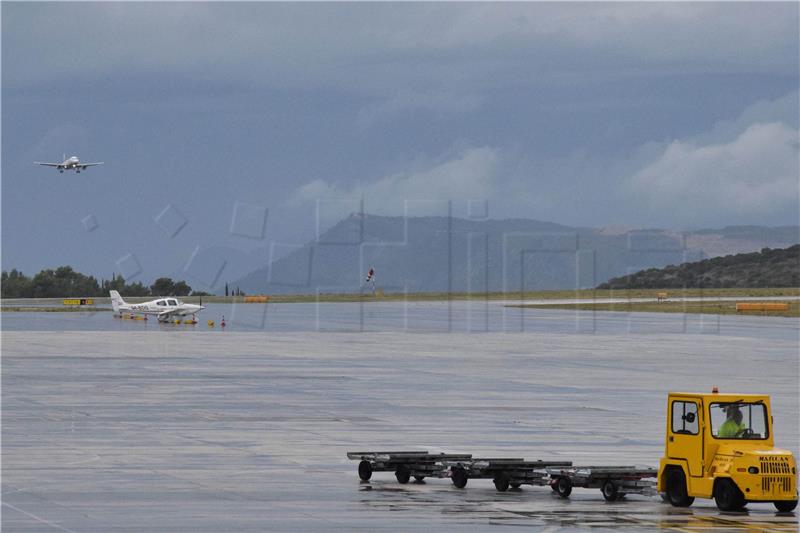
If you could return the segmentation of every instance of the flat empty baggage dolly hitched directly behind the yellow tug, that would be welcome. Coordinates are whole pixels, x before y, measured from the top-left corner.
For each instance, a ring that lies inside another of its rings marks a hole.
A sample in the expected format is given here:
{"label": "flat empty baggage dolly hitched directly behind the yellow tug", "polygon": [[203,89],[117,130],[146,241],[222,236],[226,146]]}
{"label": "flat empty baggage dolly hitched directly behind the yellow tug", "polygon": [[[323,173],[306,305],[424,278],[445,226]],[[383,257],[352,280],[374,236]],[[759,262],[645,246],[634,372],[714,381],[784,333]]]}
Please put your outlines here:
{"label": "flat empty baggage dolly hitched directly behind the yellow tug", "polygon": [[[626,494],[656,494],[655,468],[635,466],[573,466],[547,468],[550,487],[562,498],[569,497],[572,487],[600,489],[606,501],[622,499]],[[652,479],[649,479],[652,478]]]}

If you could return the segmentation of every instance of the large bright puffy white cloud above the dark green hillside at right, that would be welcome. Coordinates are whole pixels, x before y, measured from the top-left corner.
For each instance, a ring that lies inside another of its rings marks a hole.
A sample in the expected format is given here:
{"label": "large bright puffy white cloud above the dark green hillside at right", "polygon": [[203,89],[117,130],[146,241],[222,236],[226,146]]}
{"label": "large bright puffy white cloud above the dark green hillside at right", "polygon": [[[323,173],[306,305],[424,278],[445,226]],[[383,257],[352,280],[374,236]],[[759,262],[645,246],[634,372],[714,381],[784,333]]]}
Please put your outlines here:
{"label": "large bright puffy white cloud above the dark green hillside at right", "polygon": [[654,220],[686,226],[769,220],[798,212],[798,130],[755,123],[729,142],[676,140],[629,182]]}

